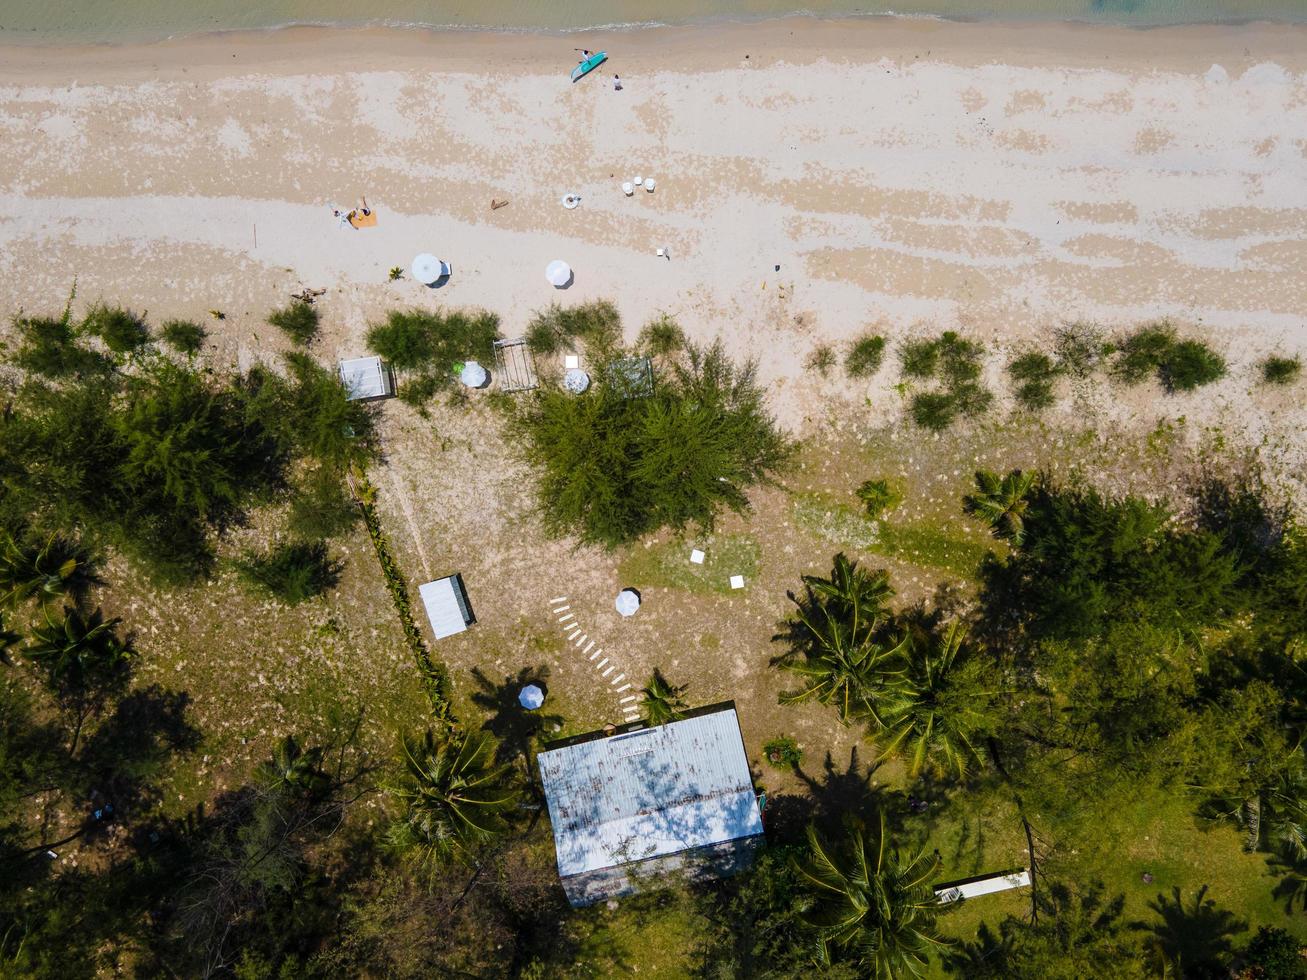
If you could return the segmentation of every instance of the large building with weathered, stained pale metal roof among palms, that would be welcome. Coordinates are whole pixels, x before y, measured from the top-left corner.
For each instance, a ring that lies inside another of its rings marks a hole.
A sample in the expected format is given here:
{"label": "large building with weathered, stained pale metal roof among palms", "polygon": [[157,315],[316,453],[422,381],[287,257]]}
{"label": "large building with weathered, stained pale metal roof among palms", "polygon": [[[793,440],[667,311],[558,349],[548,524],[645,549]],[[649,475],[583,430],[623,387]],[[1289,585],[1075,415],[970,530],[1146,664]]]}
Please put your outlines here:
{"label": "large building with weathered, stained pale metal roof among palms", "polygon": [[536,762],[572,906],[629,895],[670,872],[731,874],[762,843],[733,702],[555,742]]}

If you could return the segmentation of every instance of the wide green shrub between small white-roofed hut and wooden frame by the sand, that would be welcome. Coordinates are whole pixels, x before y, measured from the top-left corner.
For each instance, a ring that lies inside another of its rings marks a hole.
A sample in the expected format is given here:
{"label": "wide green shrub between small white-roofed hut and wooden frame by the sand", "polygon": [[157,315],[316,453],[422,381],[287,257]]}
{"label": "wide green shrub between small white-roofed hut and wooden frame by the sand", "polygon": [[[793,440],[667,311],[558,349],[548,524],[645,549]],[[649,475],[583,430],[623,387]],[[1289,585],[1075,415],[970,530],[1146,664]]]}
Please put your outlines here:
{"label": "wide green shrub between small white-roofed hut and wooden frame by the sand", "polygon": [[421,406],[454,388],[455,365],[489,361],[499,318],[485,310],[391,310],[367,329],[367,346],[405,372],[400,399]]}

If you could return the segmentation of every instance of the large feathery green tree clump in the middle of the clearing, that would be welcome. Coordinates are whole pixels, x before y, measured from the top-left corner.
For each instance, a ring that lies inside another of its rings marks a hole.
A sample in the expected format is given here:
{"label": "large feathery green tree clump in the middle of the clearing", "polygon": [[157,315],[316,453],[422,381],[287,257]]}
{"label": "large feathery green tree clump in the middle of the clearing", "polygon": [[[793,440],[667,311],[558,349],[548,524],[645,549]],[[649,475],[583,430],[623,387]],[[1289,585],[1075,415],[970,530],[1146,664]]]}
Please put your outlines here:
{"label": "large feathery green tree clump in the middle of the clearing", "polygon": [[516,412],[549,533],[613,547],[664,527],[711,529],[789,460],[754,366],[733,366],[720,345],[691,348],[644,396],[630,396],[617,363],[600,362],[584,395],[545,388]]}

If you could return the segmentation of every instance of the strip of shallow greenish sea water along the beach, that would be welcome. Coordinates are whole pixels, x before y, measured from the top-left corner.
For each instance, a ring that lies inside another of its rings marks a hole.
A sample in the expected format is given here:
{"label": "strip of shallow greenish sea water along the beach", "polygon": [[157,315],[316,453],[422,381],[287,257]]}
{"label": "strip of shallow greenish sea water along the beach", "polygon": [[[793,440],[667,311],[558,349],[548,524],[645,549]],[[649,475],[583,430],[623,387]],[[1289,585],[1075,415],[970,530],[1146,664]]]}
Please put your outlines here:
{"label": "strip of shallow greenish sea water along the beach", "polygon": [[1307,0],[0,0],[0,42],[125,42],[293,24],[569,31],[755,20],[901,14],[1090,21],[1132,26],[1307,22]]}

